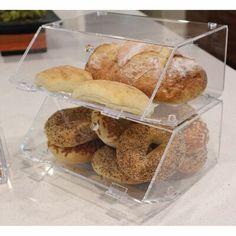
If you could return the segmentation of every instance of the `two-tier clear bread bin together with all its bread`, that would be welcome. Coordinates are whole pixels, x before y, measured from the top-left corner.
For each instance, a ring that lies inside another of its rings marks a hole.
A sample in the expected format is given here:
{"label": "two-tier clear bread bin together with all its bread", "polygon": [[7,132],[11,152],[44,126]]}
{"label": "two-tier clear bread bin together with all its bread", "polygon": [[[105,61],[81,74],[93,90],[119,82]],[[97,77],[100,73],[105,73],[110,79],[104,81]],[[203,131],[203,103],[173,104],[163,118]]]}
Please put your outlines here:
{"label": "two-tier clear bread bin together with all its bread", "polygon": [[[46,52],[36,50],[40,32]],[[216,23],[109,12],[43,25],[11,77],[48,95],[22,152],[117,199],[180,196],[219,157],[227,34]],[[82,118],[71,128],[80,113],[89,134]],[[68,144],[75,133],[83,141]],[[81,149],[87,161],[68,161]]]}

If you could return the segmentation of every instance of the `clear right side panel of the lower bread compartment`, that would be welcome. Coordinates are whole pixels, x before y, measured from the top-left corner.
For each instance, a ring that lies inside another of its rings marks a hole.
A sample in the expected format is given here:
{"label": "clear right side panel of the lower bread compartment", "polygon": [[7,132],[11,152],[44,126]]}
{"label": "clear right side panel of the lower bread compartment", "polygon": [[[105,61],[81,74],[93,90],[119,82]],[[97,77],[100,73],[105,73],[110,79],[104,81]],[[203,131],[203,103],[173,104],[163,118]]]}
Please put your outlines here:
{"label": "clear right side panel of the lower bread compartment", "polygon": [[[185,137],[185,158],[180,162],[176,172],[166,180],[152,179],[145,195],[145,201],[163,201],[174,199],[204,176],[214,165],[220,155],[221,125],[223,103],[215,101],[204,108],[204,112],[185,122],[174,136]],[[166,157],[168,157],[167,150]],[[163,165],[168,159],[162,157]],[[160,170],[156,170],[158,177]]]}

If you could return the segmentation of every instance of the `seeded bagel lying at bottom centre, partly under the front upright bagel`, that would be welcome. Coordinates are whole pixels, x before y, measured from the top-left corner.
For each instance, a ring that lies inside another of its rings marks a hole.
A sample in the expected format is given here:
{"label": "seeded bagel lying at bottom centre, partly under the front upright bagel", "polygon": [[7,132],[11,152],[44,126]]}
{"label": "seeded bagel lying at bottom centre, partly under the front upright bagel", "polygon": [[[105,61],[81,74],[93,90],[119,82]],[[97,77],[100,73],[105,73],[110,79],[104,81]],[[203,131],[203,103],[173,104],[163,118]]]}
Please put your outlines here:
{"label": "seeded bagel lying at bottom centre, partly under the front upright bagel", "polygon": [[142,181],[132,180],[126,176],[116,161],[115,149],[103,146],[95,152],[91,160],[94,171],[110,181],[120,184],[140,184]]}

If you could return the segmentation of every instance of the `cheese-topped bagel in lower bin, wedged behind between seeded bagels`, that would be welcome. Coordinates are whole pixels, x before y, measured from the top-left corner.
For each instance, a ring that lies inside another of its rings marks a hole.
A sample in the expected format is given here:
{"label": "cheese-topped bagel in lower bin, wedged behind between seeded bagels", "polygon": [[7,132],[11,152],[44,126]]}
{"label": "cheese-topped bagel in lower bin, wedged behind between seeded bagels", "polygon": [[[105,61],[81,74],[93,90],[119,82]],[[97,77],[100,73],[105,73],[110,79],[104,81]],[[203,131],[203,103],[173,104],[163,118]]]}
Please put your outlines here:
{"label": "cheese-topped bagel in lower bin, wedged behind between seeded bagels", "polygon": [[120,135],[131,121],[113,119],[102,115],[98,111],[92,112],[92,129],[97,136],[108,146],[116,147]]}

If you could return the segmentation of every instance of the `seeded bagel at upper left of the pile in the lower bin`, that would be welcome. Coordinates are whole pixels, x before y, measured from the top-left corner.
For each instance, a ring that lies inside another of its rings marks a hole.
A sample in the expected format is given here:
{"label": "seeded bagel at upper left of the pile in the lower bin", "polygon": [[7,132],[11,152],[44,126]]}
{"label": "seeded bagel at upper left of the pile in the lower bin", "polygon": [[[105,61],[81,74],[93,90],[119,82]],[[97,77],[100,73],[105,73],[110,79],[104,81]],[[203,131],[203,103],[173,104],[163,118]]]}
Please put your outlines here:
{"label": "seeded bagel at upper left of the pile in the lower bin", "polygon": [[59,147],[75,147],[97,138],[90,129],[92,110],[84,107],[55,112],[45,124],[48,141]]}

